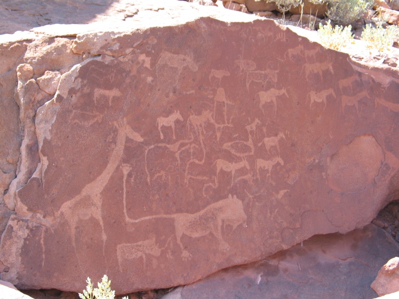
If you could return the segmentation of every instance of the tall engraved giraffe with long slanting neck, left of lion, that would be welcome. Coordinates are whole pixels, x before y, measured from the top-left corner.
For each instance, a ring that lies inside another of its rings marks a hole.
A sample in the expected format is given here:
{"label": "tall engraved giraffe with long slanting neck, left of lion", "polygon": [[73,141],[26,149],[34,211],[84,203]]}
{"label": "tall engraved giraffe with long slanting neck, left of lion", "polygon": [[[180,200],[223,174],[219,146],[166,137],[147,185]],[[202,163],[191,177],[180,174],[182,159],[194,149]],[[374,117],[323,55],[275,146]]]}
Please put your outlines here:
{"label": "tall engraved giraffe with long slanting neck, left of lion", "polygon": [[103,245],[105,246],[107,236],[105,234],[104,223],[102,219],[101,193],[103,192],[111,175],[114,173],[122,159],[126,138],[128,137],[136,142],[143,142],[143,138],[138,133],[133,131],[129,125],[127,125],[126,119],[123,119],[114,125],[118,130],[116,144],[104,171],[95,180],[87,184],[79,193],[79,195],[62,204],[59,211],[56,213],[56,219],[65,219],[68,222],[72,237],[72,244],[75,250],[75,227],[81,219],[87,220],[90,217],[93,217],[99,222],[102,230]]}

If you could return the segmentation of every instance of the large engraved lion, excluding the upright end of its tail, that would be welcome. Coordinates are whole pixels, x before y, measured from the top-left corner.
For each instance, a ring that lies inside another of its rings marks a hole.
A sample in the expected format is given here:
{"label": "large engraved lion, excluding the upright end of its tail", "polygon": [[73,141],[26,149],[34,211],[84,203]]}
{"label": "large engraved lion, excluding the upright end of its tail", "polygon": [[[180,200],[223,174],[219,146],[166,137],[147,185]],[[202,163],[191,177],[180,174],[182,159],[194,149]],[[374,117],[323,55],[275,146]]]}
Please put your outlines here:
{"label": "large engraved lion, excluding the upright end of its tail", "polygon": [[[126,210],[126,208],[125,208]],[[182,243],[182,236],[199,238],[212,234],[219,242],[219,250],[227,251],[230,246],[224,241],[222,227],[226,229],[231,226],[231,231],[238,225],[246,227],[246,214],[241,200],[237,197],[228,195],[227,198],[211,203],[197,213],[178,213],[171,215],[153,215],[139,219],[131,219],[125,216],[127,223],[139,223],[156,219],[173,219],[175,223],[176,240],[182,250],[182,258],[189,259],[191,254],[186,250]]]}

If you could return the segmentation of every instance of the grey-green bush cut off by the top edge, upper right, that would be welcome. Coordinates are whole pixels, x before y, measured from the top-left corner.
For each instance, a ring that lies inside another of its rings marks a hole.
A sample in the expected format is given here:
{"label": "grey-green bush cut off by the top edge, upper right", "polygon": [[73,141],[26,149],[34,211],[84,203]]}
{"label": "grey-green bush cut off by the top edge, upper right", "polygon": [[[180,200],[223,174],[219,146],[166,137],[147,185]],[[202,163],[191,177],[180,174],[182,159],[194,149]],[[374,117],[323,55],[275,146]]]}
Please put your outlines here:
{"label": "grey-green bush cut off by the top edge, upper right", "polygon": [[350,24],[361,18],[372,6],[374,0],[328,0],[327,16],[340,24]]}

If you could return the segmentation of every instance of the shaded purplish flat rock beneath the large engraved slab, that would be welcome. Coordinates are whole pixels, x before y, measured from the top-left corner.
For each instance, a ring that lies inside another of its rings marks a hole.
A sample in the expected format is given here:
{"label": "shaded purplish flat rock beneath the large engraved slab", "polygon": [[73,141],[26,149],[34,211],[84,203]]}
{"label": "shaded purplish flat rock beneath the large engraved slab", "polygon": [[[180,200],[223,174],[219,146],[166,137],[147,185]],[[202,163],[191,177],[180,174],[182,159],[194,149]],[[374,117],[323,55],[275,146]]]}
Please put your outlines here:
{"label": "shaded purplish flat rock beneath the large engraved slab", "polygon": [[374,225],[347,235],[314,236],[303,246],[185,286],[175,299],[373,299],[378,295],[370,285],[379,268],[398,253],[398,243]]}

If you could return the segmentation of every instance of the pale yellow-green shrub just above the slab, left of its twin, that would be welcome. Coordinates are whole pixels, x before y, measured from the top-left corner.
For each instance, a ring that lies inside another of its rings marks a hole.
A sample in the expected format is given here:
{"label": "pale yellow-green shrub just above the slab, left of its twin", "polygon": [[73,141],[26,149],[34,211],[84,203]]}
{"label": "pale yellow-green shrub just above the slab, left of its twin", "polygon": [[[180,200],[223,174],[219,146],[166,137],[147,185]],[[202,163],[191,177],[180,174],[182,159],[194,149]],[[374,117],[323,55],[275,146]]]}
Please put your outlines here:
{"label": "pale yellow-green shrub just above the slab, left of its twin", "polygon": [[328,20],[327,24],[319,24],[319,30],[317,33],[320,37],[320,43],[334,50],[339,50],[348,45],[353,40],[352,26],[338,26],[335,28],[331,25],[331,21]]}

